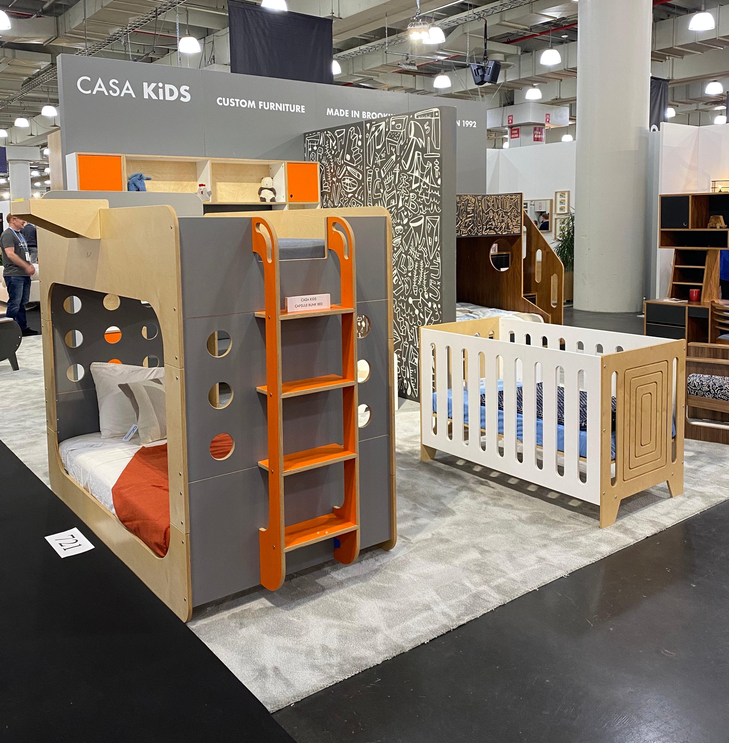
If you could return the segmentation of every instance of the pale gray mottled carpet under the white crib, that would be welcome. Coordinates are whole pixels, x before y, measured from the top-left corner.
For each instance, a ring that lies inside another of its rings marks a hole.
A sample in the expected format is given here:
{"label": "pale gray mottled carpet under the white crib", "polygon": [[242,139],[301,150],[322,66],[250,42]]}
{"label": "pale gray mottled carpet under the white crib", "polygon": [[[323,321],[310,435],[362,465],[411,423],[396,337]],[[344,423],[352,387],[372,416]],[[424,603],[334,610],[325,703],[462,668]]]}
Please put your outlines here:
{"label": "pale gray mottled carpet under the white crib", "polygon": [[271,711],[729,498],[729,447],[687,441],[684,495],[639,493],[600,530],[591,504],[455,458],[422,464],[418,412],[396,421],[394,550],[331,562],[189,624]]}

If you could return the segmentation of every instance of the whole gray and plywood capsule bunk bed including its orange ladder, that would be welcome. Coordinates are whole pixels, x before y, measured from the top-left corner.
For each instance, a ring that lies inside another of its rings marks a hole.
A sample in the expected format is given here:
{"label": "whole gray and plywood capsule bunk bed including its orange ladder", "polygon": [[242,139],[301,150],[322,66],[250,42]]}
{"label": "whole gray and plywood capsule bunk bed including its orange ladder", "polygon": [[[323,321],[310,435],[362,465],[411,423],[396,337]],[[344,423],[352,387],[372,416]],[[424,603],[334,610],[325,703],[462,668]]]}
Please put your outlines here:
{"label": "whole gray and plywood capsule bunk bed including its orange ladder", "polygon": [[[178,218],[50,198],[12,210],[42,228],[51,487],[178,617],[395,545],[386,210]],[[331,309],[283,309],[321,293]],[[101,436],[94,362],[163,368],[165,449]],[[105,452],[158,458],[166,553],[120,520],[108,463],[89,470]]]}

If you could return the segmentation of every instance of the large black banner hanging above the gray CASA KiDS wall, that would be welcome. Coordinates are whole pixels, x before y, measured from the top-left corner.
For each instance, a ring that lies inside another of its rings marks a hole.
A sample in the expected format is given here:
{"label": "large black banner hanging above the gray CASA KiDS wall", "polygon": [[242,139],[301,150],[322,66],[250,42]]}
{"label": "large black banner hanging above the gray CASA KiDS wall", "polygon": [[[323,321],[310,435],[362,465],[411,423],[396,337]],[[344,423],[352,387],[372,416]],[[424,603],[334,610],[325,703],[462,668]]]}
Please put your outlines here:
{"label": "large black banner hanging above the gray CASA KiDS wall", "polygon": [[230,71],[334,82],[331,19],[228,1]]}

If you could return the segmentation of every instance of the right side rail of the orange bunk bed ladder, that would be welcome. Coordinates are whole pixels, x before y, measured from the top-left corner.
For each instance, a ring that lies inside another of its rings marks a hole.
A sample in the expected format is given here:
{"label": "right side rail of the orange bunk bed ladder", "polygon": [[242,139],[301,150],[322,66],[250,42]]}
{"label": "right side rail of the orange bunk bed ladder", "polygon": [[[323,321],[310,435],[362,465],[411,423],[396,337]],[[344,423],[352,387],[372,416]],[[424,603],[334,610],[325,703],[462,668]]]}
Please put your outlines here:
{"label": "right side rail of the orange bunk bed ladder", "polygon": [[[356,380],[357,285],[354,271],[354,234],[345,219],[327,217],[326,249],[333,250],[339,258],[341,305],[343,308],[354,309],[354,312],[342,315],[342,376]],[[357,524],[357,529],[337,537],[337,541],[334,542],[334,559],[349,565],[360,554],[360,441],[356,384],[342,390],[342,403],[344,448],[355,452],[357,456],[344,462],[344,501],[340,507],[334,508],[334,514]]]}

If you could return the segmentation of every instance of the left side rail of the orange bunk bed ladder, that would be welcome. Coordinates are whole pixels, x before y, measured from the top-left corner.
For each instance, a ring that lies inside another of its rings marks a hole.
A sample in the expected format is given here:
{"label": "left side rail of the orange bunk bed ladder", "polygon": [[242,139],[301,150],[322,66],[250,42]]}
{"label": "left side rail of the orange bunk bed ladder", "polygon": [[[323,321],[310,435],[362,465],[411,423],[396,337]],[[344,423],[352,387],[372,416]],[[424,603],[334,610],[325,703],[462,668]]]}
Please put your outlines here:
{"label": "left side rail of the orange bunk bed ladder", "polygon": [[268,390],[268,527],[259,531],[261,584],[276,591],[284,582],[283,408],[281,399],[281,288],[279,239],[265,219],[251,217],[253,252],[263,261]]}

